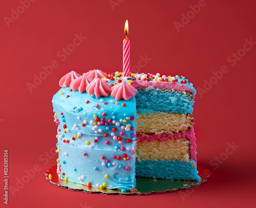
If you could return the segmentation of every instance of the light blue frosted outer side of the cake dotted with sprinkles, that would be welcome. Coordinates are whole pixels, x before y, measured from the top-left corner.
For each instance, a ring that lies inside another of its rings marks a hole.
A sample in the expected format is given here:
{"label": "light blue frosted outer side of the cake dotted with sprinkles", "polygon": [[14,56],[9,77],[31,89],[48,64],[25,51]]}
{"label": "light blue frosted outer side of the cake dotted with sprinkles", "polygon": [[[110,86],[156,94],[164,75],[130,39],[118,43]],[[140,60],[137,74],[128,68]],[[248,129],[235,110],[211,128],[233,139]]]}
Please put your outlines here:
{"label": "light blue frosted outer side of the cake dotted with sprinkles", "polygon": [[117,101],[111,95],[96,98],[61,88],[52,102],[61,176],[95,187],[105,183],[105,188],[132,190],[136,181],[135,97]]}

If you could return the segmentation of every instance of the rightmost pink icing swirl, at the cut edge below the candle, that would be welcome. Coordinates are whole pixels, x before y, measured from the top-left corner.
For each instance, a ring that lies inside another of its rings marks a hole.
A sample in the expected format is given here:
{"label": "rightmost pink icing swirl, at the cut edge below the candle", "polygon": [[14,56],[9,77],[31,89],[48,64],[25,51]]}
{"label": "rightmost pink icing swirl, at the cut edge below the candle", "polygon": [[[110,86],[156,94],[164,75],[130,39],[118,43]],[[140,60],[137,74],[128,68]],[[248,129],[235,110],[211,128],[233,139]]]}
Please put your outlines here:
{"label": "rightmost pink icing swirl, at the cut edge below the candle", "polygon": [[116,100],[129,100],[135,96],[136,91],[137,90],[132,85],[129,85],[125,81],[122,81],[121,83],[112,87],[111,96],[115,97]]}

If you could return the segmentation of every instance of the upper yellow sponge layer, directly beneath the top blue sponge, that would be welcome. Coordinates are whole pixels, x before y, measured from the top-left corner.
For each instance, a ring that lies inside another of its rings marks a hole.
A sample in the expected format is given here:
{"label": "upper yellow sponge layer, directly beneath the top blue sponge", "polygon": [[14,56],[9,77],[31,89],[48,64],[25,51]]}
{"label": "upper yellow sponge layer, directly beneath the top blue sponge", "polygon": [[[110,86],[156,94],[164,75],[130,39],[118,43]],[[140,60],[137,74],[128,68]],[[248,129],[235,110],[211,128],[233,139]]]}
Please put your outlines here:
{"label": "upper yellow sponge layer, directly beneath the top blue sponge", "polygon": [[180,113],[138,113],[137,133],[163,134],[172,132],[186,132],[193,126],[192,114]]}

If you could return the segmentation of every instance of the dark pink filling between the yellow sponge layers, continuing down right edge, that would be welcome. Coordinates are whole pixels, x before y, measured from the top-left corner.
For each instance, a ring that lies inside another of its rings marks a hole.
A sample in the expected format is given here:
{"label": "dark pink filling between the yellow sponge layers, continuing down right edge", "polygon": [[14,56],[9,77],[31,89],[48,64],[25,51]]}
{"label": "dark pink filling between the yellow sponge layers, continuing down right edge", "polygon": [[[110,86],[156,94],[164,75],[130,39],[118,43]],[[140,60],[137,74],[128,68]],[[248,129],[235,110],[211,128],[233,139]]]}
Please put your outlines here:
{"label": "dark pink filling between the yellow sponge layers, continuing down right edge", "polygon": [[191,159],[194,159],[195,162],[197,163],[197,154],[196,154],[196,149],[197,149],[197,144],[196,144],[196,137],[195,137],[195,132],[194,128],[192,128],[188,132],[183,132],[183,133],[170,133],[170,134],[152,134],[152,135],[142,135],[142,134],[136,134],[137,141],[140,142],[151,142],[153,140],[159,140],[159,141],[165,141],[167,139],[181,139],[181,138],[186,138],[190,142],[190,155]]}

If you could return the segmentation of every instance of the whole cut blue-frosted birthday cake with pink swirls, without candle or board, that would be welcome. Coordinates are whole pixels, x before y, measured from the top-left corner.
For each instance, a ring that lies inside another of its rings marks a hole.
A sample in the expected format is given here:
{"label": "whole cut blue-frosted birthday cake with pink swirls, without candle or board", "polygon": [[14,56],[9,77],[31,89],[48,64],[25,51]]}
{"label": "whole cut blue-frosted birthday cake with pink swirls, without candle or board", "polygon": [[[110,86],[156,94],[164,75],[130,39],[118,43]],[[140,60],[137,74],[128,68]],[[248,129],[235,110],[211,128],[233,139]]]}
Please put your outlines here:
{"label": "whole cut blue-frosted birthday cake with pink swirls, without candle or board", "polygon": [[201,180],[193,105],[184,76],[67,73],[53,96],[57,172],[98,187],[136,189],[136,177]]}

